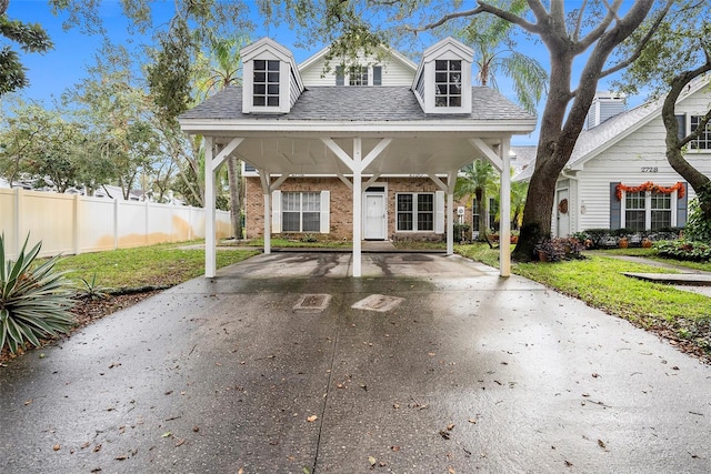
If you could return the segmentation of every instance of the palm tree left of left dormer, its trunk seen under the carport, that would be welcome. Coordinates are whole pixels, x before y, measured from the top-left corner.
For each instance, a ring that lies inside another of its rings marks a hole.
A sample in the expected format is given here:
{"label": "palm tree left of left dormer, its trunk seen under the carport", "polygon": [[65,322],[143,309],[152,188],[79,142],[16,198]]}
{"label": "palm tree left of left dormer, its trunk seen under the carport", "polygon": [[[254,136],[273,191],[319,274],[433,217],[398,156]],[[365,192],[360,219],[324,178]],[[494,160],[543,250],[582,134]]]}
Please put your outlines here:
{"label": "palm tree left of left dormer, its trunk seen under the carport", "polygon": [[[246,42],[241,37],[214,39],[209,58],[203,58],[206,63],[204,77],[199,82],[200,90],[211,95],[233,84],[239,84],[239,71],[241,67],[240,49]],[[230,186],[230,218],[234,239],[242,238],[242,164],[234,155],[227,160],[227,173]]]}

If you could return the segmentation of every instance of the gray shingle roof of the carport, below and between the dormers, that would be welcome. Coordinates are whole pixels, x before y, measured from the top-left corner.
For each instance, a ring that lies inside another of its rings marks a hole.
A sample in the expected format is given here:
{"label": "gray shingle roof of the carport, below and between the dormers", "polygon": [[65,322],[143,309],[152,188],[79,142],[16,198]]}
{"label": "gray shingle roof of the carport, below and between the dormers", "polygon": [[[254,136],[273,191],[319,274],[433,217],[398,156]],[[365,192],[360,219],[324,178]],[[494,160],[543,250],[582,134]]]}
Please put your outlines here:
{"label": "gray shingle roof of the carport, below and between the dormers", "polygon": [[242,88],[227,88],[180,117],[181,120],[422,121],[535,120],[497,91],[472,88],[470,114],[425,114],[408,87],[312,87],[280,115],[242,113]]}

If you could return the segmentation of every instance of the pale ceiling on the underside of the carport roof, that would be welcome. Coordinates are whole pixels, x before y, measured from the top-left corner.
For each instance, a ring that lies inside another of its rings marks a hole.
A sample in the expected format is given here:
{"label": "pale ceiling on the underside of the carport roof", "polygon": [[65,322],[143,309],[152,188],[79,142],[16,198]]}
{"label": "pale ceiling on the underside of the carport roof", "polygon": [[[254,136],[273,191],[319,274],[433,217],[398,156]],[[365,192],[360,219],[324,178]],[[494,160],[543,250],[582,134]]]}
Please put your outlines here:
{"label": "pale ceiling on the underside of the carport roof", "polygon": [[[389,147],[363,170],[362,174],[441,174],[459,170],[481,158],[469,142],[471,135],[403,137],[394,138]],[[224,141],[224,140],[220,140]],[[350,157],[353,139],[333,139]],[[362,139],[362,157],[381,138]],[[487,140],[490,145],[498,140]],[[318,138],[247,138],[236,155],[270,174],[334,175],[350,174],[351,170]]]}

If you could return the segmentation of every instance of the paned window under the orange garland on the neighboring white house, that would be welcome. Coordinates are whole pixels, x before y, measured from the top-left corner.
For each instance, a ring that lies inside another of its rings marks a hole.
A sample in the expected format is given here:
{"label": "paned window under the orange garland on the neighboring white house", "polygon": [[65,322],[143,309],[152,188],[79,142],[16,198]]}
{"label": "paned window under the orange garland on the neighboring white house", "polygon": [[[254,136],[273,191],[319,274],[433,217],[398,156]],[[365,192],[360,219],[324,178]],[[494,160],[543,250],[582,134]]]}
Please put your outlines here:
{"label": "paned window under the orange garland on the neighboring white house", "polygon": [[669,229],[675,225],[672,202],[677,192],[652,191],[624,192],[622,226],[634,232]]}

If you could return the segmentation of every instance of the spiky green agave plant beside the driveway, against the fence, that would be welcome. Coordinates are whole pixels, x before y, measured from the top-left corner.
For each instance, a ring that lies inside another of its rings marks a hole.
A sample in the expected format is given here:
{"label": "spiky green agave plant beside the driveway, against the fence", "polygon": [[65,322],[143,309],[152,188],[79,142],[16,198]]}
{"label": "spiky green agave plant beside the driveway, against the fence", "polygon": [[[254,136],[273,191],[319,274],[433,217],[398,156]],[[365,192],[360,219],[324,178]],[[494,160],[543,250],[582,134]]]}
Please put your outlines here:
{"label": "spiky green agave plant beside the driveway, against the fence", "polygon": [[58,258],[34,264],[42,243],[29,252],[29,235],[17,260],[6,260],[4,235],[0,235],[0,349],[12,354],[27,342],[36,347],[40,337],[68,333],[74,323],[73,300],[62,272],[54,270]]}

